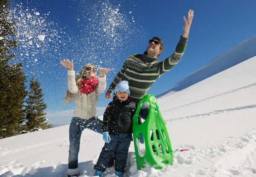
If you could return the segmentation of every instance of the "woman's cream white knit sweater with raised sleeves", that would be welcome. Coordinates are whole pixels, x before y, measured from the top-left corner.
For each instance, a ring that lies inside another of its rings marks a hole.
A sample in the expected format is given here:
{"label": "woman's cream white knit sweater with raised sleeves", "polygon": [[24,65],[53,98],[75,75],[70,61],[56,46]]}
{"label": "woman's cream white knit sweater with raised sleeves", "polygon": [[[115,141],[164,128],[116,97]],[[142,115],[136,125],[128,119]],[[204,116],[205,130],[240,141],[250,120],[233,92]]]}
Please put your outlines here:
{"label": "woman's cream white knit sweater with raised sleeves", "polygon": [[94,92],[87,94],[81,93],[76,86],[75,71],[67,71],[67,87],[70,93],[74,94],[76,106],[73,113],[74,117],[89,119],[96,116],[96,106],[98,103],[99,94],[106,89],[106,76],[98,77],[99,84]]}

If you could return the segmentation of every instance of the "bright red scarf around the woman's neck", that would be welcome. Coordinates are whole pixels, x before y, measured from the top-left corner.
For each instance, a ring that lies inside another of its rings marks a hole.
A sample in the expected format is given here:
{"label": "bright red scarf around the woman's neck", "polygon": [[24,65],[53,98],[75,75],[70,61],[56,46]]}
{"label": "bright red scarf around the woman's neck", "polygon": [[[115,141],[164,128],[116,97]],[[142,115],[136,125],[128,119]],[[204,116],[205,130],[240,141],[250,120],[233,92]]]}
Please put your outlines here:
{"label": "bright red scarf around the woman's neck", "polygon": [[99,80],[95,77],[92,79],[82,79],[80,83],[80,90],[84,94],[92,93],[95,91],[98,84]]}

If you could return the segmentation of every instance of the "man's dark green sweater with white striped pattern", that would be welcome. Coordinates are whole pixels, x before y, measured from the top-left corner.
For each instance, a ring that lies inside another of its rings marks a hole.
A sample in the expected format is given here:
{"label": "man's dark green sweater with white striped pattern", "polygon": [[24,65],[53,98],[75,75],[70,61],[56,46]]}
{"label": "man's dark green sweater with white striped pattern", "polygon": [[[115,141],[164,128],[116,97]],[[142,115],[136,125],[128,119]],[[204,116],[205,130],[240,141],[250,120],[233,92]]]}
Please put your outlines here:
{"label": "man's dark green sweater with white striped pattern", "polygon": [[163,61],[145,54],[129,56],[111,83],[108,92],[112,93],[119,81],[128,81],[130,96],[134,102],[138,103],[162,74],[177,65],[186,49],[187,41],[188,38],[180,37],[175,52]]}

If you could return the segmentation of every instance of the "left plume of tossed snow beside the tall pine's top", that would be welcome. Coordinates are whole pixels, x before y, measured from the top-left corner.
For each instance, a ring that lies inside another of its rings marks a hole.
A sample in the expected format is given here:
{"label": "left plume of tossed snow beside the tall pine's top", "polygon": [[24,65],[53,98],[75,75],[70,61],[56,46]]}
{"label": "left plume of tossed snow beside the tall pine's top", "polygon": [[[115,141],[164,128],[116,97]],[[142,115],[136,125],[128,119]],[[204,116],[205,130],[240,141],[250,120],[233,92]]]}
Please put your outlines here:
{"label": "left plume of tossed snow beside the tall pine's top", "polygon": [[[61,39],[61,28],[58,27],[57,23],[52,22],[49,16],[45,14],[40,15],[36,8],[26,7],[23,3],[13,2],[10,5],[12,14],[9,20],[16,21],[16,38],[19,39],[17,53],[22,51],[29,54],[15,58],[16,62],[23,62],[24,65],[30,65],[33,61],[31,55],[39,56],[44,54],[45,51],[49,51],[48,56],[54,56],[55,53],[49,48],[50,41],[44,40],[45,36],[42,34],[47,34],[47,37],[51,38],[51,44],[55,48],[59,48],[60,44],[58,40]],[[38,42],[40,42],[40,46]]]}

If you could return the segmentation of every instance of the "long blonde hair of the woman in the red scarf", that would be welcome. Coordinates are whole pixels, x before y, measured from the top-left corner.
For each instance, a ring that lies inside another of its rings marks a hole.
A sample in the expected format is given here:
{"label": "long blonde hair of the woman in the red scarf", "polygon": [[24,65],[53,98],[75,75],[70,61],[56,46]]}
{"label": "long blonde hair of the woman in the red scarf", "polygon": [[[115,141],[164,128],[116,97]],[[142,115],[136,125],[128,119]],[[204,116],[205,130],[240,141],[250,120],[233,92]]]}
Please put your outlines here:
{"label": "long blonde hair of the woman in the red scarf", "polygon": [[[80,90],[80,83],[82,79],[89,79],[86,76],[84,76],[84,70],[89,67],[90,65],[94,66],[91,63],[88,63],[87,65],[84,65],[84,67],[80,70],[79,74],[76,76],[76,86],[78,87],[78,90]],[[95,67],[95,66],[94,66]],[[97,73],[95,73],[97,76]],[[63,100],[64,103],[70,104],[74,98],[74,94],[70,93],[70,91],[67,90],[66,97]]]}

